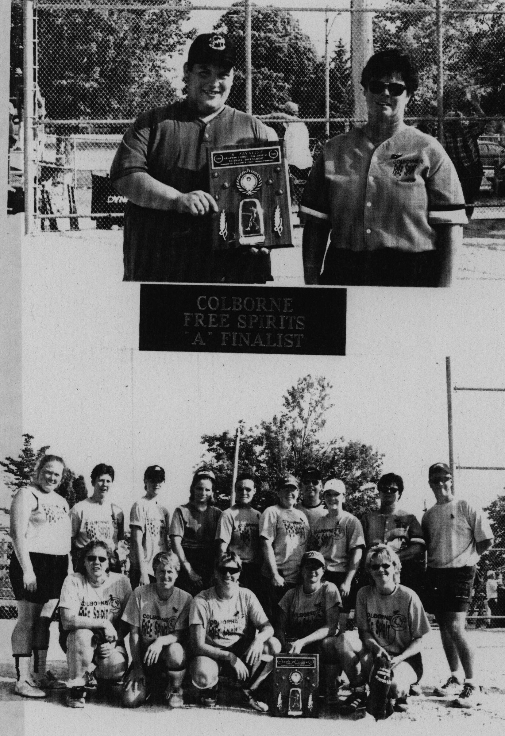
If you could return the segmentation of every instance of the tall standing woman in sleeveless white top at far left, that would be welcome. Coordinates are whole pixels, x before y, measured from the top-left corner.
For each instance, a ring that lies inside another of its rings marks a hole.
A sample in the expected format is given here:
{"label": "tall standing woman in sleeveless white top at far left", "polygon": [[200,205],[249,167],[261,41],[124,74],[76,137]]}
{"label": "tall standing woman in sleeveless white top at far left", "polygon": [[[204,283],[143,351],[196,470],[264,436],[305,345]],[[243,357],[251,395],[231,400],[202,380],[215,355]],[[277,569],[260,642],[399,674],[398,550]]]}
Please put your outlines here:
{"label": "tall standing woman in sleeveless white top at far left", "polygon": [[43,690],[58,687],[52,673],[46,673],[46,659],[49,624],[63,581],[72,572],[68,503],[56,492],[65,470],[62,458],[44,455],[35,482],[20,488],[10,507],[14,551],[9,573],[18,601],[18,623],[12,636],[18,676],[15,693],[25,698],[44,698]]}

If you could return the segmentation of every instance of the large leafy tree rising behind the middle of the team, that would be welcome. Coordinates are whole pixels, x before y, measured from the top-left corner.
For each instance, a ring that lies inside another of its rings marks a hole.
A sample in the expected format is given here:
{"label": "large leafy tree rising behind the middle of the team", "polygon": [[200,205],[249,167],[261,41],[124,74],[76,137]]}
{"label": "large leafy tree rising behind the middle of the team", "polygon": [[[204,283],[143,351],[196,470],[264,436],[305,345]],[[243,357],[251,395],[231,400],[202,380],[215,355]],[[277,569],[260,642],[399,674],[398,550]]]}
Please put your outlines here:
{"label": "large leafy tree rising behind the middle of the team", "polygon": [[[361,515],[375,504],[375,483],[381,475],[383,455],[362,442],[343,437],[325,439],[323,430],[331,403],[332,386],[322,376],[299,378],[283,395],[283,410],[272,420],[246,428],[241,422],[239,470],[252,470],[258,478],[254,505],[263,511],[276,502],[278,479],[285,473],[300,478],[304,467],[319,467],[323,478],[340,478],[347,488],[346,508]],[[205,434],[202,461],[216,473],[216,502],[230,503],[236,438],[228,431]]]}

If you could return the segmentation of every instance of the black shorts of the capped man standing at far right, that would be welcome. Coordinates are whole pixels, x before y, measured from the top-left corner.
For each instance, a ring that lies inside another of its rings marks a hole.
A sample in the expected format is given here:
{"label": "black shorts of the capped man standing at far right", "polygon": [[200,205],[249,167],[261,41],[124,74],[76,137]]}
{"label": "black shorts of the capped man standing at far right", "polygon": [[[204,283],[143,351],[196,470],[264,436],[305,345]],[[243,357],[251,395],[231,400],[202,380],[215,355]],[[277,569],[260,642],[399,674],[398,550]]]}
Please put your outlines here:
{"label": "black shorts of the capped man standing at far right", "polygon": [[428,567],[425,609],[428,613],[466,613],[476,567]]}

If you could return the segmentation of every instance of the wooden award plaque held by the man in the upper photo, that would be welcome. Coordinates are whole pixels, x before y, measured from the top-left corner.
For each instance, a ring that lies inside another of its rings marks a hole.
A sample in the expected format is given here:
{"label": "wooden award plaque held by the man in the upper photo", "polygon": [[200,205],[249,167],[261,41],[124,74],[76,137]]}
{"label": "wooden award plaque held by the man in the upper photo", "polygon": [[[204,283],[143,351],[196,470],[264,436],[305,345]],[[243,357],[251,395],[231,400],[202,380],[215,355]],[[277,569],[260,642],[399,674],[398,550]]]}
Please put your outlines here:
{"label": "wooden award plaque held by the man in the upper photo", "polygon": [[208,152],[214,250],[293,244],[289,173],[280,143]]}

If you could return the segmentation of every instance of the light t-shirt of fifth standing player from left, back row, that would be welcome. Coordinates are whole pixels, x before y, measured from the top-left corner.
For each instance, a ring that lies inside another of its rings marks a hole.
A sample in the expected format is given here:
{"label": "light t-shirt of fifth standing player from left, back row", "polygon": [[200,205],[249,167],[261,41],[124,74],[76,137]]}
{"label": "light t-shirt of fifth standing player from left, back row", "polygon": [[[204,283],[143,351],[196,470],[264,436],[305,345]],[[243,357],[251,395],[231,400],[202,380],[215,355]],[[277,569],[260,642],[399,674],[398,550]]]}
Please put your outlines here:
{"label": "light t-shirt of fifth standing player from left, back row", "polygon": [[260,562],[259,521],[261,513],[251,507],[232,506],[219,517],[216,539],[222,539],[228,550],[242,562]]}

